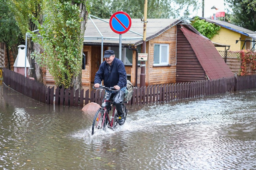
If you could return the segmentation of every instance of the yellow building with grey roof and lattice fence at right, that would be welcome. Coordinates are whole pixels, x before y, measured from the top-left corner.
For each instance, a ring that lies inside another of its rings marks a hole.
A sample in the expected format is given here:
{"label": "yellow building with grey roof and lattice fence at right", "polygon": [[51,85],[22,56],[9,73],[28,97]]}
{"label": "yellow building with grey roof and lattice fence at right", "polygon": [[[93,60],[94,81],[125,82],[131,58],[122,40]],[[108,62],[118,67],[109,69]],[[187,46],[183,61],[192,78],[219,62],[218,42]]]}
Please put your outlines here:
{"label": "yellow building with grey roof and lattice fence at right", "polygon": [[[244,49],[256,50],[256,32],[225,21],[206,18],[200,19],[204,19],[207,22],[221,27],[218,34],[212,37],[211,41],[222,58],[224,58],[230,70],[239,75],[241,71],[241,61],[237,60],[240,56],[239,51]],[[256,73],[251,67],[248,67],[247,72],[248,74]]]}

